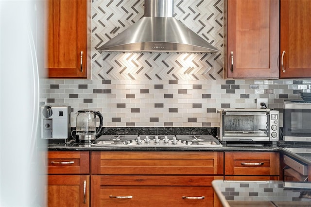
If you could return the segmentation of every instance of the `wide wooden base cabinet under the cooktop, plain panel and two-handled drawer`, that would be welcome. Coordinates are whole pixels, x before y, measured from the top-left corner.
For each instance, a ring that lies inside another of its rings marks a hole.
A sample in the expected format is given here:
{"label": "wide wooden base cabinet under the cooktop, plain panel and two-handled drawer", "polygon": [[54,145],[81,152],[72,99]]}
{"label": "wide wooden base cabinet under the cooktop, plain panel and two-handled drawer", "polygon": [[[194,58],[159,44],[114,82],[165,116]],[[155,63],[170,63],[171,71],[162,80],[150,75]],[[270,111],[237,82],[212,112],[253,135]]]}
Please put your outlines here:
{"label": "wide wooden base cabinet under the cooktop, plain panel and two-handled drawer", "polygon": [[223,152],[92,152],[92,207],[219,207]]}

